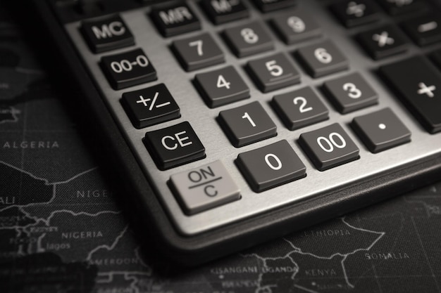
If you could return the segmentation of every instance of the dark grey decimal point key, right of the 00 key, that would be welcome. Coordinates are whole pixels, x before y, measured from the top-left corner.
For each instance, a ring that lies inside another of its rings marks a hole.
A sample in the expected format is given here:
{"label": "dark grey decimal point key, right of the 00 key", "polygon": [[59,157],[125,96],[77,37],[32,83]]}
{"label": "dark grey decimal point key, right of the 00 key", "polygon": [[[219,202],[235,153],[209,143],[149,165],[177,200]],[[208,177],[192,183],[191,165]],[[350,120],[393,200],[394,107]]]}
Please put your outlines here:
{"label": "dark grey decimal point key, right of the 00 key", "polygon": [[411,141],[411,132],[389,108],[355,117],[352,127],[374,153]]}

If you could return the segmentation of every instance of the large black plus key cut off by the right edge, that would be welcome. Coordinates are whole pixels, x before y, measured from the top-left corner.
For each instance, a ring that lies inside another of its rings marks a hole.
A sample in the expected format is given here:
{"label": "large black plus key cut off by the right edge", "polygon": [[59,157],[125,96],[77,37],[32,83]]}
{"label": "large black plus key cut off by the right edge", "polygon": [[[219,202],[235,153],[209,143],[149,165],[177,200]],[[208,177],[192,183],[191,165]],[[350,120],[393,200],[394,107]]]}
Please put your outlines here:
{"label": "large black plus key cut off by the right edge", "polygon": [[432,63],[416,56],[380,67],[380,73],[430,134],[441,131],[441,73]]}

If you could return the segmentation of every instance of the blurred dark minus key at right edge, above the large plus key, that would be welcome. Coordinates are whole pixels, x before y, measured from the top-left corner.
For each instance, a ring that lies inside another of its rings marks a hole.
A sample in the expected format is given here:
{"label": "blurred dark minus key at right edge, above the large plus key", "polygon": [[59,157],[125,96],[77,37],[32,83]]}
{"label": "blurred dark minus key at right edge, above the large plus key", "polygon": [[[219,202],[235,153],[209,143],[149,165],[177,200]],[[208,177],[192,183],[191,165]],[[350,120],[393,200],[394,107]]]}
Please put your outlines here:
{"label": "blurred dark minus key at right edge, above the large plus key", "polygon": [[427,46],[441,41],[439,15],[424,15],[413,20],[407,20],[402,25],[418,46]]}

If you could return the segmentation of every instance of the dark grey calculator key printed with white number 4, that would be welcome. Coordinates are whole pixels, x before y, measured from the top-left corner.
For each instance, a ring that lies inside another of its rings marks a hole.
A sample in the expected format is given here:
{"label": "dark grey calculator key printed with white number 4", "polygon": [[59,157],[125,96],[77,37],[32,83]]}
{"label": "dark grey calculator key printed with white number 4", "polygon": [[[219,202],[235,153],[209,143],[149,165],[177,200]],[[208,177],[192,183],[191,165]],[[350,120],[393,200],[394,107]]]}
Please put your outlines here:
{"label": "dark grey calculator key printed with white number 4", "polygon": [[194,83],[210,108],[249,98],[249,88],[234,67],[196,74]]}

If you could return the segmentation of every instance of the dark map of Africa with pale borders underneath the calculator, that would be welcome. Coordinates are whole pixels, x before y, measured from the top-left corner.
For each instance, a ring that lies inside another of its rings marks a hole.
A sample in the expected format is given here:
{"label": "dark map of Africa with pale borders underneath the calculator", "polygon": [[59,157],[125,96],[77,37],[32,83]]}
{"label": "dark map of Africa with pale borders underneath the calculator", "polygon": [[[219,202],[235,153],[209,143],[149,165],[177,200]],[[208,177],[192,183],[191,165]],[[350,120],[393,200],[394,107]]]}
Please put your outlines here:
{"label": "dark map of Africa with pale borders underneath the calculator", "polygon": [[441,292],[441,183],[206,266],[159,268],[78,117],[0,19],[0,292]]}

